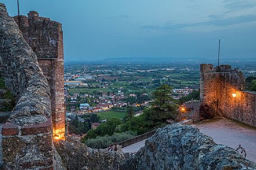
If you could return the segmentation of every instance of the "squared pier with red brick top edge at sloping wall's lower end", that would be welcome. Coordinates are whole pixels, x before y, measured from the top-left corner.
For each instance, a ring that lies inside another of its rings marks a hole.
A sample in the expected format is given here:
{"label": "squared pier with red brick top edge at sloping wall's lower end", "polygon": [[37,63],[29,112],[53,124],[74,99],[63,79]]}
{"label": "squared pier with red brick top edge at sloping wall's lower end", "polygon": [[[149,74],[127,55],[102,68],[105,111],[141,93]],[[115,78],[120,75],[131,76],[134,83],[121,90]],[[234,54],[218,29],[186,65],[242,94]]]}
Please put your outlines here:
{"label": "squared pier with red brick top edge at sloping wall's lower end", "polygon": [[52,120],[39,125],[7,122],[2,127],[5,169],[53,169]]}

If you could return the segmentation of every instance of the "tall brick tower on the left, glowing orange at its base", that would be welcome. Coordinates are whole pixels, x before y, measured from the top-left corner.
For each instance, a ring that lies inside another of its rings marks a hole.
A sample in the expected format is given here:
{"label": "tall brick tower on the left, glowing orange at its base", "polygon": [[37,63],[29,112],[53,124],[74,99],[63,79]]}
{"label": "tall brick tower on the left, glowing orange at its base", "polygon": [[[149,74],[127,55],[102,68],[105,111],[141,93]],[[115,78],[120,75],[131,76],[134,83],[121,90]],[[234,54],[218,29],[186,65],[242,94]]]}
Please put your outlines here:
{"label": "tall brick tower on the left, glowing orange at its base", "polygon": [[[35,11],[30,11],[27,16],[21,16],[21,31],[38,57],[39,66],[50,86],[53,135],[64,139],[66,106],[62,25],[50,18],[39,17],[39,13]],[[14,18],[18,23],[18,17]]]}

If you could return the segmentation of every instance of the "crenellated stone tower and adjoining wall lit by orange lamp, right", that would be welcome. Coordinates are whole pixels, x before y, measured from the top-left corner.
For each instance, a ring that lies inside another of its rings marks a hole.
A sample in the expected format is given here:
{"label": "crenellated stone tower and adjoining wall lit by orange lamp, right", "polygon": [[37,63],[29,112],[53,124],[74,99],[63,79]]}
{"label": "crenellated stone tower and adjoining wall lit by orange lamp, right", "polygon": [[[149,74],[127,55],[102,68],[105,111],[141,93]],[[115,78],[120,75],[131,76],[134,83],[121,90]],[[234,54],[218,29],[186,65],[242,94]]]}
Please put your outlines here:
{"label": "crenellated stone tower and adjoining wall lit by orange lamp, right", "polygon": [[231,69],[230,65],[201,65],[201,101],[220,109],[226,118],[256,127],[256,93],[244,91],[244,87],[245,79],[238,69]]}

